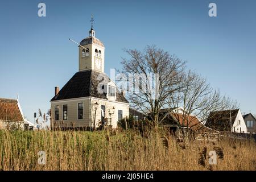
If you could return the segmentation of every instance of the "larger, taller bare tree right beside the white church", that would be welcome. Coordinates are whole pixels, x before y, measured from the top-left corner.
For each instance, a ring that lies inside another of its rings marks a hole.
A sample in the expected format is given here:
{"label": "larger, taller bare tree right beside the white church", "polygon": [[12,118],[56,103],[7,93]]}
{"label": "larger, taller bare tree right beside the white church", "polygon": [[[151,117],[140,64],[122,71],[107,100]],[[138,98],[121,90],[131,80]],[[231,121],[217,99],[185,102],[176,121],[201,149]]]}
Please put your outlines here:
{"label": "larger, taller bare tree right beside the white church", "polygon": [[[185,62],[156,46],[147,46],[143,52],[137,49],[125,51],[130,57],[123,58],[123,69],[119,73],[126,75],[129,84],[127,98],[136,109],[150,113],[148,117],[158,124],[159,110],[166,104],[168,94],[179,89]],[[133,78],[130,79],[128,74]]]}

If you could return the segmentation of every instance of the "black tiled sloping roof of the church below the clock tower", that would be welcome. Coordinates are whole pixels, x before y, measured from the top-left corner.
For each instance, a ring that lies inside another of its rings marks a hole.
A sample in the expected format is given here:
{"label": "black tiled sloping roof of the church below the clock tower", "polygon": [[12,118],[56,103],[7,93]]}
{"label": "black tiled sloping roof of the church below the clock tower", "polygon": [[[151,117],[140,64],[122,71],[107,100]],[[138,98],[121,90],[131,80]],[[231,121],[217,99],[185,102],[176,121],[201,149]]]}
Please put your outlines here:
{"label": "black tiled sloping roof of the church below the clock tower", "polygon": [[[110,78],[105,73],[92,70],[77,72],[51,101],[80,97],[108,99],[106,93],[99,93],[97,89],[102,80],[110,82]],[[117,92],[115,94],[117,97],[116,101],[129,103],[121,93]]]}

